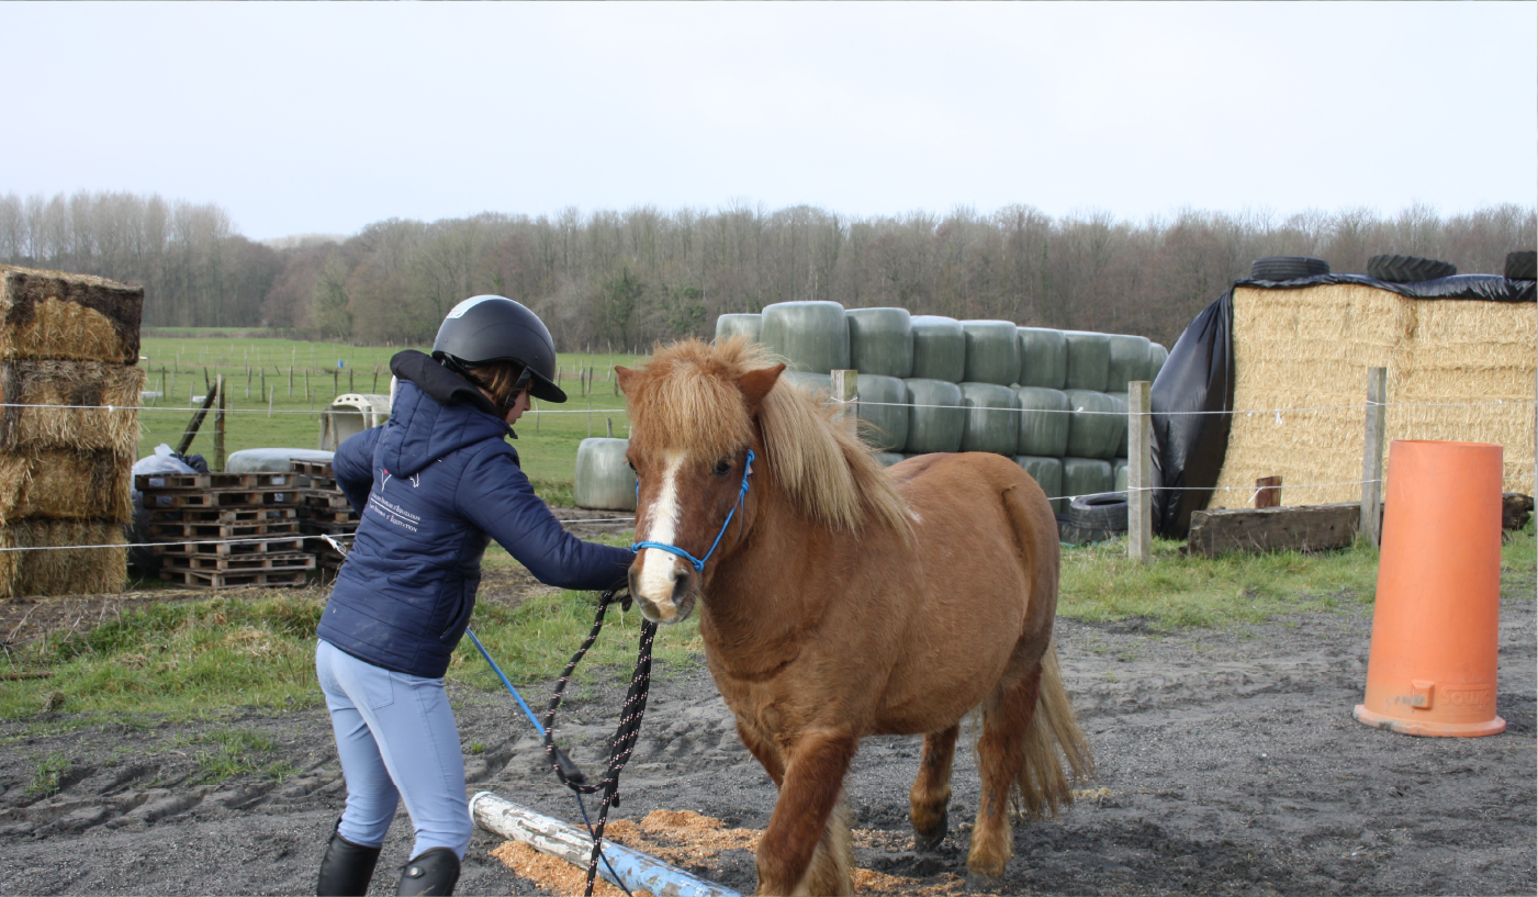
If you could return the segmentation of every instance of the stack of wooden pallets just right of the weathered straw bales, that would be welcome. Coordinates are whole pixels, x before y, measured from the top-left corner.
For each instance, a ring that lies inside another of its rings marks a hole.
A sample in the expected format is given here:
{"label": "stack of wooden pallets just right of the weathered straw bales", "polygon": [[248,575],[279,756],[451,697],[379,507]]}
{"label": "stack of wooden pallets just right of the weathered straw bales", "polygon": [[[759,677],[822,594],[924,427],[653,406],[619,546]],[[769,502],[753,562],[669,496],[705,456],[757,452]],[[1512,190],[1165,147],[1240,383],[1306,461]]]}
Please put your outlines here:
{"label": "stack of wooden pallets just right of the weathered straw bales", "polygon": [[315,569],[298,532],[291,474],[141,474],[135,485],[166,582],[301,586]]}

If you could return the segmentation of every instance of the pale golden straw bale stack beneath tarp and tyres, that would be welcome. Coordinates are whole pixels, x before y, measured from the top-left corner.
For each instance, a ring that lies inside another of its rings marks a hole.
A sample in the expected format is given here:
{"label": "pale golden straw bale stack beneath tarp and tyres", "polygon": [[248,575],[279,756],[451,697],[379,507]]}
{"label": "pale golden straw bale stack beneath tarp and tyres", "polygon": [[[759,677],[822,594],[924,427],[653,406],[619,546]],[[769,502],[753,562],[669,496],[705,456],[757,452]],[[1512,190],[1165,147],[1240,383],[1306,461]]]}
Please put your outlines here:
{"label": "pale golden straw bale stack beneath tarp and tyres", "polygon": [[[1233,406],[1246,412],[1233,417],[1209,506],[1249,506],[1255,480],[1272,475],[1286,505],[1360,500],[1370,366],[1389,371],[1387,438],[1500,443],[1506,475],[1530,477],[1533,409],[1515,403],[1533,402],[1535,345],[1533,303],[1409,298],[1358,283],[1237,288]],[[1270,411],[1293,408],[1306,411]],[[1523,486],[1532,480],[1507,480]]]}

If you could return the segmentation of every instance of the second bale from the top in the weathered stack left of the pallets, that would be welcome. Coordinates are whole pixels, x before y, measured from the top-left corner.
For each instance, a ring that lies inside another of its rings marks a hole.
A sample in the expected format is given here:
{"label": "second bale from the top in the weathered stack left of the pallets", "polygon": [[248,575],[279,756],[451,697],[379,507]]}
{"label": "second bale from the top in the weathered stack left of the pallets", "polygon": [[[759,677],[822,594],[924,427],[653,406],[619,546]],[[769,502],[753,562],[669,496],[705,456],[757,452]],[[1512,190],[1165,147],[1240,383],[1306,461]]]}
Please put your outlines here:
{"label": "second bale from the top in the weathered stack left of the pallets", "polygon": [[[145,371],[100,362],[0,362],[0,451],[138,449]],[[22,408],[89,406],[89,408]]]}

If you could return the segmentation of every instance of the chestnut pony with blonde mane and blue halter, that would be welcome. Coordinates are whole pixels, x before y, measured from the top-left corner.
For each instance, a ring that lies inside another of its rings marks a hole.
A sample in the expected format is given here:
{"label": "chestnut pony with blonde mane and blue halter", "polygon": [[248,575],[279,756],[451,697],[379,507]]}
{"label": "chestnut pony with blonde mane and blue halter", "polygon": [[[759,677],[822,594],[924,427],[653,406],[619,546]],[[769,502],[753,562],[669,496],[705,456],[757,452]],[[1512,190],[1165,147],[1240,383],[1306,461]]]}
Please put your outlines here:
{"label": "chestnut pony with blonde mane and blue halter", "polygon": [[910,811],[918,848],[935,848],[974,709],[983,789],[967,871],[997,886],[1012,803],[1055,814],[1072,802],[1063,760],[1075,777],[1090,769],[1052,648],[1052,508],[1000,455],[883,469],[783,369],[741,338],[686,340],[618,369],[635,539],[649,543],[631,594],[658,623],[700,603],[715,685],[780,789],[758,894],[852,892],[843,780],[864,735],[924,735]]}

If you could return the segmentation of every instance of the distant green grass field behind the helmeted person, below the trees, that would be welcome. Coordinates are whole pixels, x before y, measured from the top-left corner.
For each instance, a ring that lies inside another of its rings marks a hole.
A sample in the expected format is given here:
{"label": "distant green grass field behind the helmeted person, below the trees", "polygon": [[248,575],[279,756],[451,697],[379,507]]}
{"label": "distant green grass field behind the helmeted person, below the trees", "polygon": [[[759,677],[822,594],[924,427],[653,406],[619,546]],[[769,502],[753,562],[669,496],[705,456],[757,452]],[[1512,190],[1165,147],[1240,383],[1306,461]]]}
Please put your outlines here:
{"label": "distant green grass field behind the helmeted person, below the trees", "polygon": [[[315,448],[320,412],[341,392],[389,392],[389,358],[400,348],[348,346],[285,338],[223,335],[146,337],[140,346],[148,392],[161,392],[140,412],[140,457],[160,443],[175,448],[194,408],[189,397],[205,394],[205,378],[226,378],[225,451],[248,448]],[[634,365],[635,355],[561,354],[566,405],[538,402],[518,423],[523,469],[546,499],[569,495],[577,445],[588,435],[629,432],[624,398],[617,395],[614,365]],[[592,368],[592,391],[581,394],[580,369]],[[271,412],[269,412],[271,398]],[[589,414],[591,408],[591,414]],[[203,422],[192,452],[212,460],[214,418]]]}

